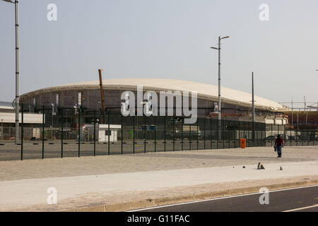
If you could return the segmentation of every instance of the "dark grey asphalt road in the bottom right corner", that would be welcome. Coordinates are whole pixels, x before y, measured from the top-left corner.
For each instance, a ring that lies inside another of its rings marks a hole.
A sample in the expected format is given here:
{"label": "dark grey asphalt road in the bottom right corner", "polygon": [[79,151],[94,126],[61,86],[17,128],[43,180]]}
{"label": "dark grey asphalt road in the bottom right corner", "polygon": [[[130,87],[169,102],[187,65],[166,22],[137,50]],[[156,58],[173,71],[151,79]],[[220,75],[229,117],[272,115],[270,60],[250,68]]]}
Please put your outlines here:
{"label": "dark grey asphalt road in the bottom right corner", "polygon": [[[214,198],[208,201],[179,203],[136,212],[318,212],[318,185],[269,191],[269,204],[260,204],[264,194]],[[263,201],[265,199],[263,198]]]}

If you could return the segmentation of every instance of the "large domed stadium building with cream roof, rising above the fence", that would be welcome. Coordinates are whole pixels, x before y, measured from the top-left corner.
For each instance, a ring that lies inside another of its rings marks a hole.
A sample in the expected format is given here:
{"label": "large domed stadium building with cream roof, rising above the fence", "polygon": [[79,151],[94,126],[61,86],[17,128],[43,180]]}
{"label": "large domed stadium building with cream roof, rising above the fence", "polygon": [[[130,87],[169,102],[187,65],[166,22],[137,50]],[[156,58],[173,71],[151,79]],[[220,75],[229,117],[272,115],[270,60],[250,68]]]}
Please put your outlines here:
{"label": "large domed stadium building with cream roof, rising above the fence", "polygon": [[[122,106],[121,95],[124,91],[137,91],[137,85],[143,86],[143,92],[155,91],[196,91],[197,92],[197,114],[198,117],[217,117],[215,107],[218,104],[218,86],[192,81],[179,81],[158,78],[125,78],[110,79],[102,81],[105,99],[105,109],[120,113]],[[136,95],[137,96],[137,95]],[[221,113],[223,118],[250,121],[252,119],[252,94],[239,90],[221,87]],[[256,121],[285,124],[287,119],[283,112],[288,110],[283,105],[263,97],[254,96]],[[42,88],[30,93],[20,95],[20,102],[31,112],[37,112],[46,108],[59,107],[72,109],[80,105],[83,114],[86,109],[102,108],[100,96],[100,81],[88,81],[58,85]],[[159,103],[159,100],[158,100]]]}

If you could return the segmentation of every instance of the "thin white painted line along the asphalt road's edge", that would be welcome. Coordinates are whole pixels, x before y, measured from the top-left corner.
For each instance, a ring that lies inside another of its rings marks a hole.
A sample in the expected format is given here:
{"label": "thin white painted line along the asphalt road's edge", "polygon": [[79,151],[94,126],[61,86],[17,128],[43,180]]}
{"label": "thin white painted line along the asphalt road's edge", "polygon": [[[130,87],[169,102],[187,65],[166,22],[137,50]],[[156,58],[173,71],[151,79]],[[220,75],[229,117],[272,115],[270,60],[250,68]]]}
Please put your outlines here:
{"label": "thin white painted line along the asphalt road's edge", "polygon": [[[278,189],[278,190],[269,191],[269,193],[270,192],[276,192],[276,191],[288,191],[288,190],[294,190],[294,189],[305,189],[305,188],[310,188],[310,187],[313,187],[313,186],[318,186],[318,184],[310,185],[310,186],[300,186],[300,187],[297,187],[297,188],[290,188],[290,189]],[[236,196],[226,196],[226,197],[220,197],[220,198],[209,198],[209,199],[205,199],[205,200],[190,201],[190,202],[186,202],[186,203],[175,203],[175,204],[169,204],[169,205],[164,205],[164,206],[154,206],[154,207],[150,207],[150,208],[129,210],[129,211],[126,211],[126,212],[137,212],[137,211],[142,211],[142,210],[151,210],[151,209],[165,208],[165,207],[170,207],[170,206],[187,205],[187,204],[191,204],[191,203],[202,203],[202,202],[214,201],[214,200],[219,200],[219,199],[224,199],[224,198],[235,198],[235,197],[241,197],[241,196],[252,196],[252,195],[256,195],[256,194],[263,194],[263,192],[255,192],[255,193],[242,194],[242,195],[236,195]]]}

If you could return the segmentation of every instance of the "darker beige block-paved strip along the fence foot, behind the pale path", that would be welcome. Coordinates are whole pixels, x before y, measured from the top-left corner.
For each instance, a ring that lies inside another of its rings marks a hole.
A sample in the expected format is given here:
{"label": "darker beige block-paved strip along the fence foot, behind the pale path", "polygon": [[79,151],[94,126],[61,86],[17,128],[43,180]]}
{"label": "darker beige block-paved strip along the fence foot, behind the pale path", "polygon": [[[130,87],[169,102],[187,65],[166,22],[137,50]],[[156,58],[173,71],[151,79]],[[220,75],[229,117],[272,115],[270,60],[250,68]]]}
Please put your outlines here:
{"label": "darker beige block-paved strip along the fence foot, behind the pale path", "polygon": [[276,156],[273,148],[262,147],[1,161],[0,181],[167,169],[256,165],[257,162],[317,161],[318,146],[286,147],[283,148],[283,157],[277,158]]}

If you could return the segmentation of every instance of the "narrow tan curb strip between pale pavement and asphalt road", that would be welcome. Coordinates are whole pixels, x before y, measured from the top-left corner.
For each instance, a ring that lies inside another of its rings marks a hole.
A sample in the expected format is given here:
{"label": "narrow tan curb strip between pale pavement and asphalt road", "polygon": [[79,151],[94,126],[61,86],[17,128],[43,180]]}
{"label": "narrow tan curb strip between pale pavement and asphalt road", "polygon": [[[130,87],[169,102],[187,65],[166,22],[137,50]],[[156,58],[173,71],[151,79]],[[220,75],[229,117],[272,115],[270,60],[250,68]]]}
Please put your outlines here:
{"label": "narrow tan curb strip between pale pavement and asphalt road", "polygon": [[180,196],[171,196],[164,198],[147,198],[140,201],[134,201],[129,203],[116,203],[110,205],[98,205],[98,206],[87,206],[83,208],[75,208],[71,210],[66,210],[66,212],[117,212],[124,210],[135,210],[139,208],[149,208],[155,206],[163,206],[168,204],[189,202],[189,201],[200,201],[209,198],[220,198],[225,196],[235,196],[241,194],[252,194],[259,192],[259,189],[266,187],[269,191],[278,190],[278,189],[289,189],[296,188],[300,186],[310,186],[318,184],[318,179],[299,181],[299,182],[290,182],[283,184],[269,184],[262,186],[253,186],[248,188],[240,189],[227,189],[223,191],[211,191],[211,192],[201,192],[201,193],[192,193],[187,195]]}

